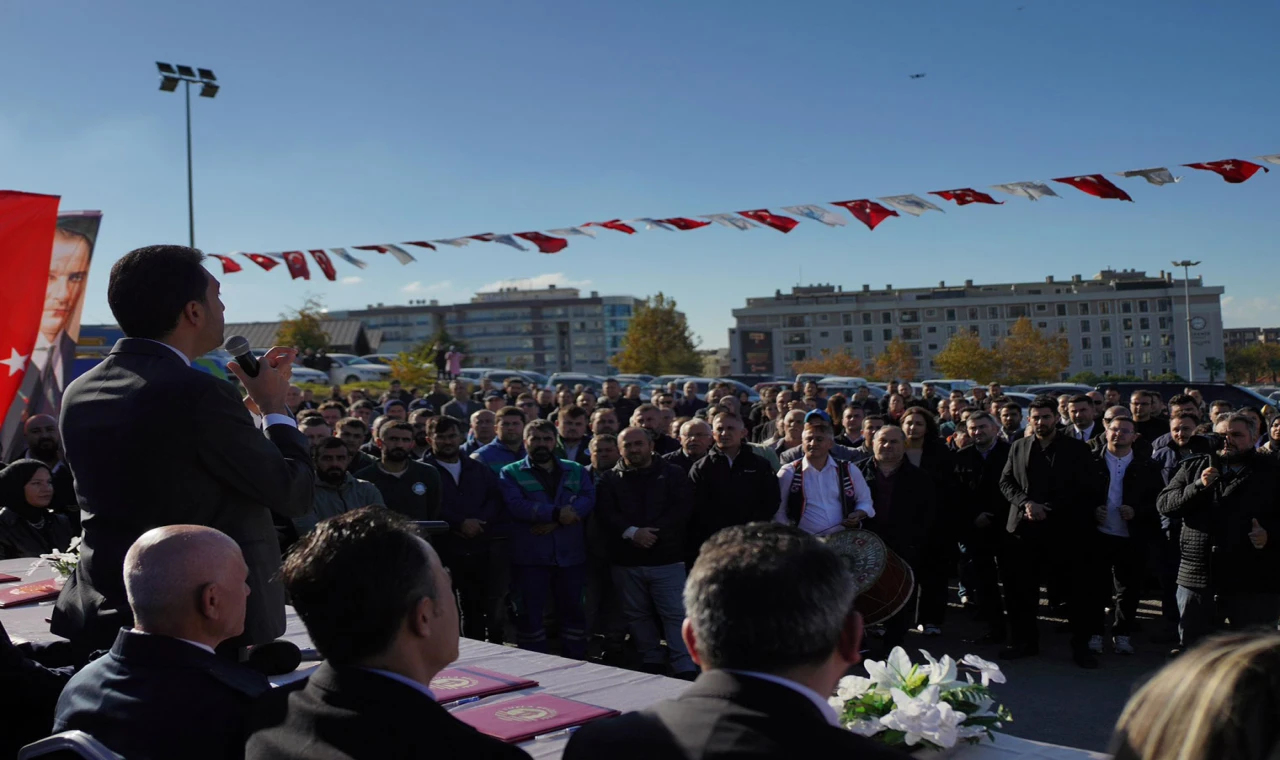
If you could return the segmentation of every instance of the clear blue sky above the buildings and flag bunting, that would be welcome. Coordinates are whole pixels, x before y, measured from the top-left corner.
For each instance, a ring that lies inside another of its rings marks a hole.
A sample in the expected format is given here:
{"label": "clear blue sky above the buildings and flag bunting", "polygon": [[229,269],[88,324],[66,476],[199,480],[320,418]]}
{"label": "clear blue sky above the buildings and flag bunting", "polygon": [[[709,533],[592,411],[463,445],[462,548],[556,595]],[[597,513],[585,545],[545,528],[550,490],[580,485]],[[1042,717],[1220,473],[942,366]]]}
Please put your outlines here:
{"label": "clear blue sky above the buildings and flag bunting", "polygon": [[[127,8],[120,9],[122,5]],[[0,187],[105,211],[86,322],[123,252],[187,239],[182,99],[154,61],[212,68],[193,99],[196,241],[282,251],[698,215],[1280,152],[1280,4],[0,4]],[[923,79],[909,74],[924,72]],[[797,281],[1011,281],[1203,260],[1229,326],[1280,324],[1280,171],[1229,186],[1114,178],[1135,203],[946,205],[874,233],[602,230],[564,252],[370,253],[339,281],[243,261],[228,320],[463,301],[506,279],[664,290],[703,345]],[[844,211],[840,211],[845,214]],[[355,280],[358,278],[358,281]]]}

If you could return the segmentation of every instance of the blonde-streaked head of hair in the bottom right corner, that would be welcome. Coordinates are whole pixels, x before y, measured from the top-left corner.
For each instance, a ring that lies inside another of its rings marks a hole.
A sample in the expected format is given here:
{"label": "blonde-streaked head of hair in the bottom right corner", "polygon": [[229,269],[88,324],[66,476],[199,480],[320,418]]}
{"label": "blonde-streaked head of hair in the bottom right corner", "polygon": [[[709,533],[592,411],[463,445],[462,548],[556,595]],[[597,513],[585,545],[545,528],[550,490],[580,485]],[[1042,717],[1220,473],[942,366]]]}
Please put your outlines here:
{"label": "blonde-streaked head of hair in the bottom right corner", "polygon": [[1207,638],[1165,665],[1125,705],[1116,760],[1280,756],[1280,635]]}

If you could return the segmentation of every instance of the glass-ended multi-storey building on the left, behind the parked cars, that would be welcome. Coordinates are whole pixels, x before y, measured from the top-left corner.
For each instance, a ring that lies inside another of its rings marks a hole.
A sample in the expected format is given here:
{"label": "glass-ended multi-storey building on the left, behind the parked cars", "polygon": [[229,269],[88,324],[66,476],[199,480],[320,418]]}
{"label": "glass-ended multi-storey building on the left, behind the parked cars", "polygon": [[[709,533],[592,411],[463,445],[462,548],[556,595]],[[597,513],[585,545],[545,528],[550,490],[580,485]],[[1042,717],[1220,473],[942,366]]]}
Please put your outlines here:
{"label": "glass-ended multi-storey building on the left, behind the parked cars", "polygon": [[468,303],[379,303],[329,316],[356,319],[379,330],[381,351],[388,353],[408,351],[443,328],[466,343],[467,366],[608,374],[641,303],[632,296],[596,290],[582,296],[576,288],[549,285],[476,293]]}

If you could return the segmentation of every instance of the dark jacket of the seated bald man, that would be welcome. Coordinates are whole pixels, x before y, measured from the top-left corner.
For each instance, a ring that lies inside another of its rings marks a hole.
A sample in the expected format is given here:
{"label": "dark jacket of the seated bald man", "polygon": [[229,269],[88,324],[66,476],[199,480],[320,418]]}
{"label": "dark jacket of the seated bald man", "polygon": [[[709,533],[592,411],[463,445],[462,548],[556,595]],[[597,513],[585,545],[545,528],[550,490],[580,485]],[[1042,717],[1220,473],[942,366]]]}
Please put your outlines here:
{"label": "dark jacket of the seated bald man", "polygon": [[270,688],[193,644],[120,631],[63,690],[54,732],[83,731],[129,760],[242,757],[250,709]]}

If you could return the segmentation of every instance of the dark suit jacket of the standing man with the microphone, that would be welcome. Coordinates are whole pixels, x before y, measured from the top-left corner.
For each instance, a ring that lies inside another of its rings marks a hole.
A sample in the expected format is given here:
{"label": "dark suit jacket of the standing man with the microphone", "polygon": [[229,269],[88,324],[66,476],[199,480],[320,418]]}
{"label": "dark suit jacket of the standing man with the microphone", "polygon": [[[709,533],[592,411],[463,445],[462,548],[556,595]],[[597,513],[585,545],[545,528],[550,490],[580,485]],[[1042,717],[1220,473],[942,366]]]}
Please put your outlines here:
{"label": "dark suit jacket of the standing man with the microphone", "polygon": [[83,542],[54,610],[54,633],[84,649],[109,647],[132,624],[124,553],[143,532],[179,523],[218,528],[244,553],[244,640],[262,644],[284,633],[271,512],[306,514],[315,480],[297,429],[273,425],[264,434],[230,384],[137,338],[118,342],[70,384],[60,426]]}

